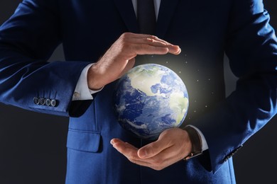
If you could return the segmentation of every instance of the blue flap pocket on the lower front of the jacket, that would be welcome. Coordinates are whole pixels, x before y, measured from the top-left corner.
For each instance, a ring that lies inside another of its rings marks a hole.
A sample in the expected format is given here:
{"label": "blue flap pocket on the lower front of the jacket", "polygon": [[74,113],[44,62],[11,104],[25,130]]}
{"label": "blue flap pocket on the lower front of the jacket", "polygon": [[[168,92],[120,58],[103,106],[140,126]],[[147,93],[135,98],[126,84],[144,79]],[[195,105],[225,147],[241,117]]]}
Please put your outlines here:
{"label": "blue flap pocket on the lower front of the jacket", "polygon": [[67,135],[67,148],[95,153],[99,150],[100,137],[100,132],[70,129]]}

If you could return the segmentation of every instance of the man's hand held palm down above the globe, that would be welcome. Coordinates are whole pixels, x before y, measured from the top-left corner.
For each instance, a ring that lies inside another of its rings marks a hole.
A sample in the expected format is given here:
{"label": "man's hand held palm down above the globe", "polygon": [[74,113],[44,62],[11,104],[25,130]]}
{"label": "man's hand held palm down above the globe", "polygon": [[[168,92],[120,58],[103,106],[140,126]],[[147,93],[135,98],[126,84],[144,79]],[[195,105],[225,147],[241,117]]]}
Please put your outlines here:
{"label": "man's hand held palm down above the globe", "polygon": [[90,89],[102,88],[134,67],[137,54],[180,54],[180,47],[153,35],[124,33],[99,61],[89,68]]}

